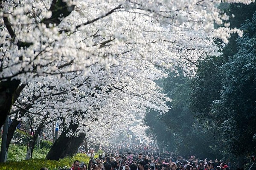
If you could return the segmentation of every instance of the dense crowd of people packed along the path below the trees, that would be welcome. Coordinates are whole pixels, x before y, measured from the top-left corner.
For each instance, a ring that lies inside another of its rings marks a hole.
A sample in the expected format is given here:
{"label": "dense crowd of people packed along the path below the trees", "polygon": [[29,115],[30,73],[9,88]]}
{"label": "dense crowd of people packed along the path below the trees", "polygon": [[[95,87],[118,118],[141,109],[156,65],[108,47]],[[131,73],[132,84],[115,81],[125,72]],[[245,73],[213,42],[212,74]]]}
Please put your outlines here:
{"label": "dense crowd of people packed along the path below the trees", "polygon": [[105,153],[94,159],[93,149],[88,165],[76,160],[72,170],[230,170],[223,160],[198,160],[195,156],[183,159],[181,156],[156,156],[154,153]]}

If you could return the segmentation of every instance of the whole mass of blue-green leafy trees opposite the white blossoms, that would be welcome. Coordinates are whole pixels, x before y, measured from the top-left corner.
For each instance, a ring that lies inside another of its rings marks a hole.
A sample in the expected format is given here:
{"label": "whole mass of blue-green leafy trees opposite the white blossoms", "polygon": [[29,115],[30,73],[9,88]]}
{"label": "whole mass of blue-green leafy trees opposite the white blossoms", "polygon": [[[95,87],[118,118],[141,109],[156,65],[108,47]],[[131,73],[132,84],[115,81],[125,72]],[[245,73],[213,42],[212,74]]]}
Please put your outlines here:
{"label": "whole mass of blue-green leafy trees opposite the white blossoms", "polygon": [[[172,99],[166,114],[148,111],[147,133],[181,156],[243,159],[256,153],[256,4],[231,4],[229,22],[243,30],[222,46],[219,57],[199,59],[195,77],[175,73],[157,83]],[[246,11],[246,12],[245,12]]]}

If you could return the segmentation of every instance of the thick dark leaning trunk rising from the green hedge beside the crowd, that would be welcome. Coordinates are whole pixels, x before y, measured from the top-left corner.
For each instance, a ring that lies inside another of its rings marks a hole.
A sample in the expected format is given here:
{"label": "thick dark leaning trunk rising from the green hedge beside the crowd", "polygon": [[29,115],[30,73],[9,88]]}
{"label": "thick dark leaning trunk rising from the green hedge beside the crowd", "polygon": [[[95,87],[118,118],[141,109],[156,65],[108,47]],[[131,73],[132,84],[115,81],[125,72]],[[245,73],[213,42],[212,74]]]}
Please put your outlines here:
{"label": "thick dark leaning trunk rising from the green hedge beside the crowd", "polygon": [[[70,125],[70,130],[75,131],[78,125]],[[79,137],[66,136],[67,131],[62,131],[60,137],[54,142],[49,150],[46,159],[59,160],[66,156],[73,156],[77,153],[79,146],[84,141],[85,134],[80,133]]]}

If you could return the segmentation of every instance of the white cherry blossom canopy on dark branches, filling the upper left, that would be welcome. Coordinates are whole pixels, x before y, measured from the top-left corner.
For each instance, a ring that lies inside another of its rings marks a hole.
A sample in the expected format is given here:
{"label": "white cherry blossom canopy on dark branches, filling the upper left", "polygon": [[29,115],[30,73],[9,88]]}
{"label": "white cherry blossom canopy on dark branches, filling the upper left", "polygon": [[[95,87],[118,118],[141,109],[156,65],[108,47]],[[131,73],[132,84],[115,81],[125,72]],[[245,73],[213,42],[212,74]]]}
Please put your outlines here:
{"label": "white cherry blossom canopy on dark branches, filling the upper left", "polygon": [[93,136],[97,125],[106,127],[105,136],[108,122],[128,121],[146,108],[164,113],[169,99],[154,80],[166,77],[165,68],[193,76],[198,58],[219,54],[213,37],[227,42],[232,33],[242,35],[229,28],[220,3],[0,1],[0,126],[11,113],[25,120],[32,114],[61,119],[69,130],[76,125],[66,136]]}

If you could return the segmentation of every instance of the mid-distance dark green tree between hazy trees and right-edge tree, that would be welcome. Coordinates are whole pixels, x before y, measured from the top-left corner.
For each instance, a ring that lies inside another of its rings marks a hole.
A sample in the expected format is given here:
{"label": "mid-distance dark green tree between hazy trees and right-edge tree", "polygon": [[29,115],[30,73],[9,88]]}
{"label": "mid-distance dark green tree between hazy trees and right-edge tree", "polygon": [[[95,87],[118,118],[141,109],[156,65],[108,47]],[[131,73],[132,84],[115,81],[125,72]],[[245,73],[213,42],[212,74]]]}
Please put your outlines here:
{"label": "mid-distance dark green tree between hazy trees and right-edge tree", "polygon": [[211,105],[220,99],[221,82],[223,79],[222,69],[225,63],[223,57],[209,56],[198,63],[197,76],[192,80],[190,111],[200,121],[211,121]]}

